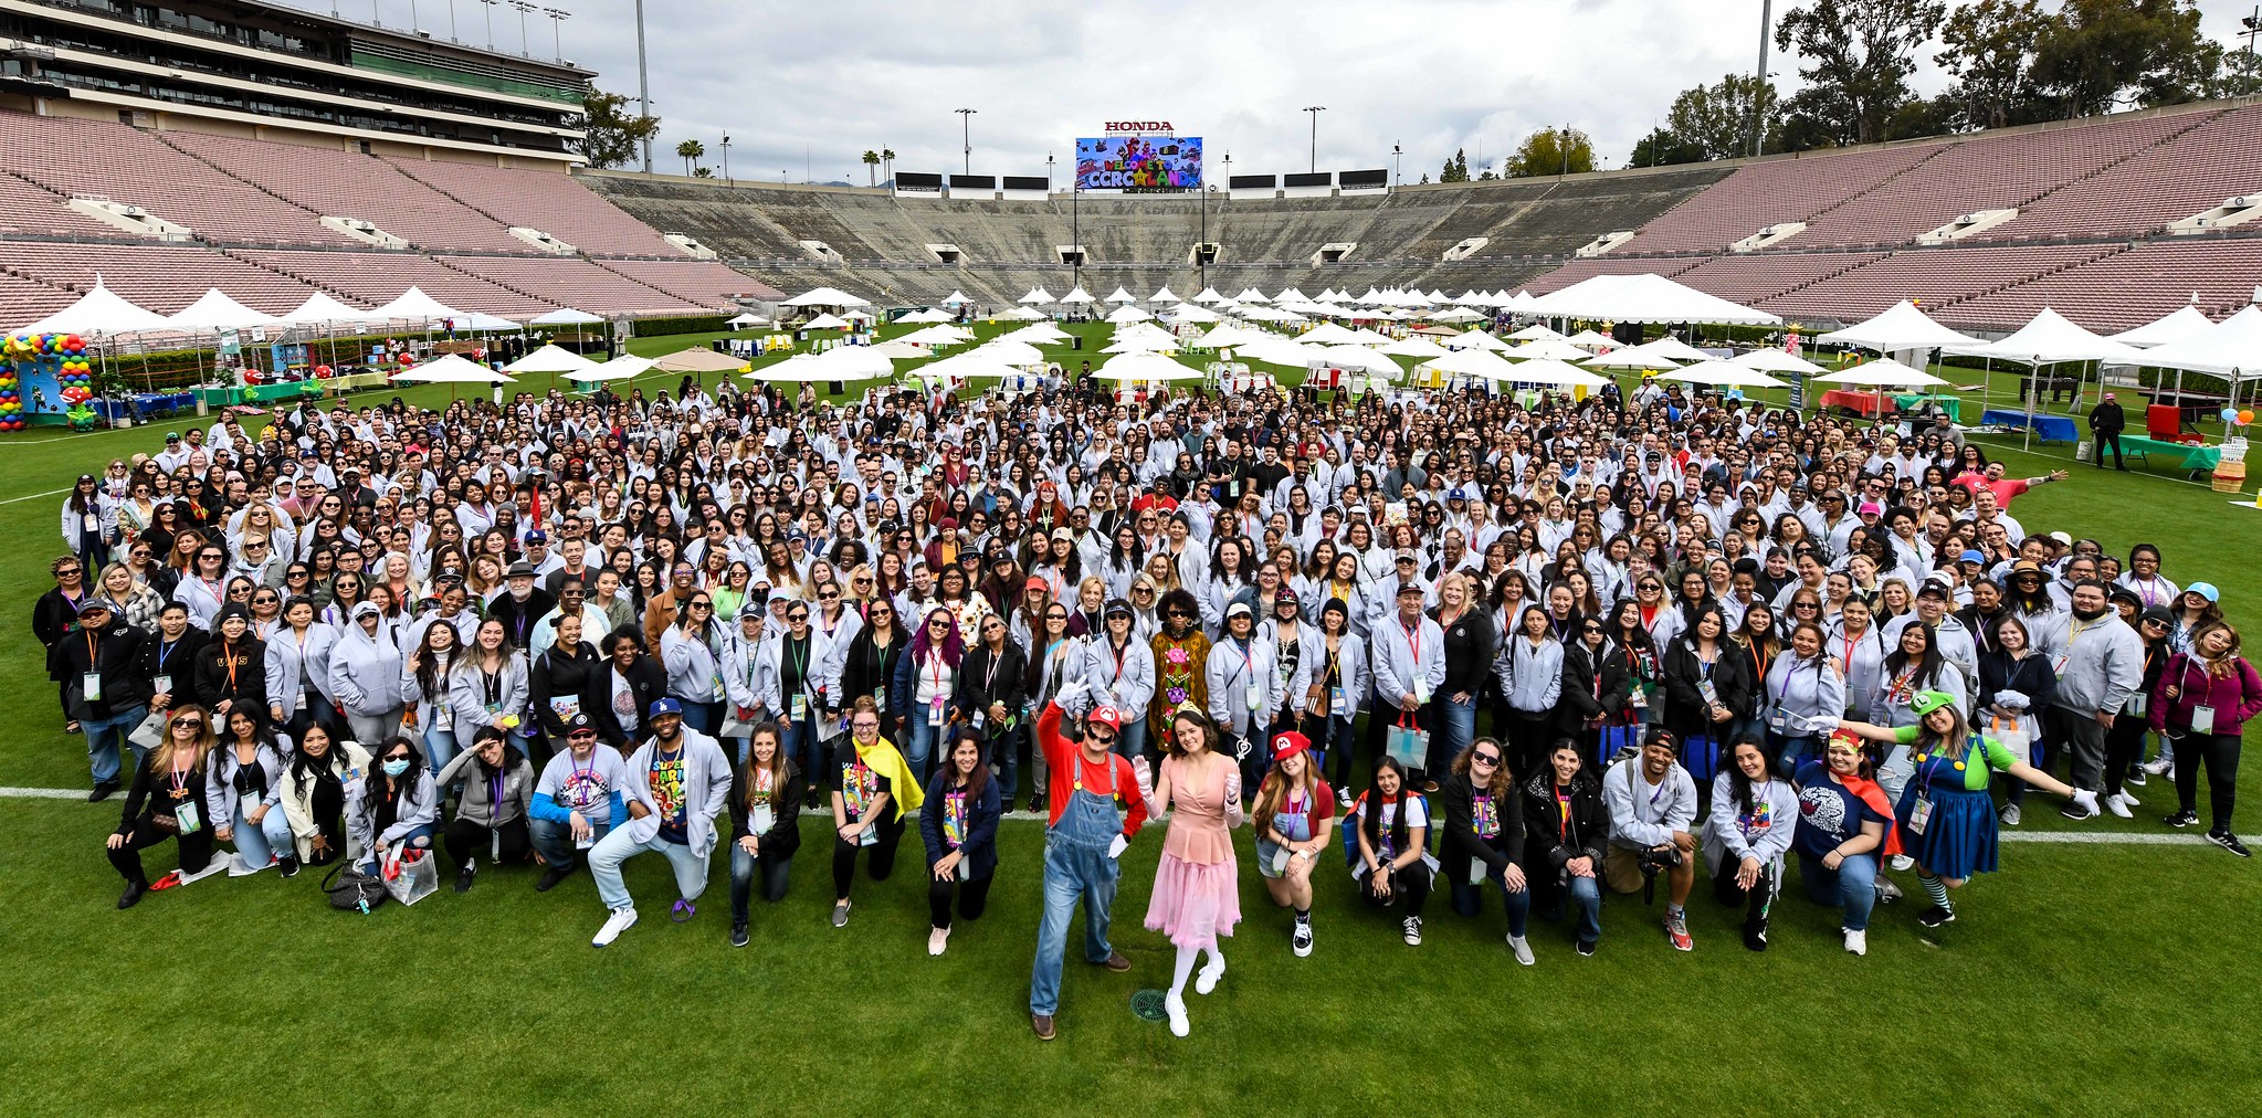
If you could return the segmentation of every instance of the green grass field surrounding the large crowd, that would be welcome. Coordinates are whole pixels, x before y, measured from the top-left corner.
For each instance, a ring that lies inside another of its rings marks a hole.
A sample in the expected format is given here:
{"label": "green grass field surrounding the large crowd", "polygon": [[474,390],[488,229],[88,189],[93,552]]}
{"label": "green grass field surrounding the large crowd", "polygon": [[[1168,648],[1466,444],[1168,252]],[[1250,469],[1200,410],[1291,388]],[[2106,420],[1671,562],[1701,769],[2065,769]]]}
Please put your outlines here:
{"label": "green grass field surrounding the large crowd", "polygon": [[[640,339],[640,353],[697,342]],[[674,376],[640,385],[672,387]],[[378,396],[391,396],[378,394]],[[403,392],[446,401],[446,389]],[[2002,392],[2000,396],[2009,396]],[[23,681],[0,720],[0,783],[84,788],[84,745],[61,733],[29,634],[57,552],[54,502],[106,455],[154,450],[156,430],[0,439],[0,663]],[[2061,462],[1988,441],[2013,473]],[[2070,448],[2049,448],[2067,455]],[[2020,498],[2029,527],[2108,550],[2160,543],[2178,582],[2208,577],[2246,629],[2262,511],[2233,509],[2174,468],[2097,473]],[[2262,831],[2248,765],[2244,833]],[[2172,801],[2140,790],[2138,819],[2086,835],[2151,837]],[[2070,828],[2049,797],[2027,833]],[[733,951],[726,874],[697,919],[665,919],[665,865],[629,867],[645,921],[590,951],[602,908],[586,874],[534,894],[529,869],[373,917],[333,912],[317,874],[208,878],[118,912],[102,835],[115,801],[0,797],[0,1113],[441,1113],[774,1111],[878,1113],[2255,1113],[2262,1012],[2257,867],[2205,844],[2006,844],[2004,871],[1959,894],[1961,919],[1925,944],[1914,905],[1884,905],[1868,957],[1839,951],[1834,914],[1794,889],[1773,946],[1746,953],[1737,917],[1692,898],[1696,953],[1674,953],[1658,908],[1604,905],[1592,960],[1534,923],[1536,969],[1502,946],[1497,908],[1430,905],[1425,944],[1321,874],[1319,946],[1296,960],[1287,917],[1244,865],[1246,921],[1217,994],[1192,998],[1194,1037],[1138,1021],[1138,989],[1169,982],[1169,946],[1140,926],[1160,831],[1124,858],[1115,946],[1129,975],[1068,964],[1061,1039],[1027,1025],[1041,828],[1004,824],[991,910],[925,955],[916,837],[896,878],[857,883],[832,930],[823,824],[780,905],[756,903]],[[1242,855],[1249,858],[1246,837]],[[165,851],[152,869],[165,867]],[[1339,867],[1330,860],[1326,867]],[[1907,885],[1907,883],[1905,883]],[[1074,955],[1074,953],[1072,953]],[[2244,1068],[2244,1070],[2242,1070]]]}

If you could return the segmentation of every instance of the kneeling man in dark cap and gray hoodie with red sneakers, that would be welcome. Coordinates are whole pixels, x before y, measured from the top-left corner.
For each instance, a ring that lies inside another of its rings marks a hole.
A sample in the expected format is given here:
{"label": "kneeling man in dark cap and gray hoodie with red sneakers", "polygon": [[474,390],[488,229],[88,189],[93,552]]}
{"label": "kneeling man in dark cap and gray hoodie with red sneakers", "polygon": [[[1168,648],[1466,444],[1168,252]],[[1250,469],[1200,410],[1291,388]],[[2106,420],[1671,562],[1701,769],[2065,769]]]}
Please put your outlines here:
{"label": "kneeling man in dark cap and gray hoodie with red sneakers", "polygon": [[1611,892],[1656,887],[1665,874],[1665,939],[1674,951],[1694,951],[1685,905],[1696,885],[1696,781],[1674,760],[1672,731],[1651,726],[1640,754],[1611,765],[1601,801],[1611,812],[1611,853],[1601,860]]}

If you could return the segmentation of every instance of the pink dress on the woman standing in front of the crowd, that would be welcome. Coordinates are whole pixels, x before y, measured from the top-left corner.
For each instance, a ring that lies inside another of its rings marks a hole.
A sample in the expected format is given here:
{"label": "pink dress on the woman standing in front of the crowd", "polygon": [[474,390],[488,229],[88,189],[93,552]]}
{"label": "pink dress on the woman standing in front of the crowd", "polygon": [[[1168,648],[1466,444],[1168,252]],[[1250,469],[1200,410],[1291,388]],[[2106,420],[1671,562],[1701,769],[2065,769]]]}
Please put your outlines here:
{"label": "pink dress on the woman standing in front of the crowd", "polygon": [[1163,760],[1169,779],[1169,833],[1163,862],[1154,869],[1147,930],[1163,932],[1181,948],[1215,948],[1242,921],[1240,865],[1226,831],[1226,776],[1233,760],[1212,758],[1210,779],[1192,788],[1192,767]]}

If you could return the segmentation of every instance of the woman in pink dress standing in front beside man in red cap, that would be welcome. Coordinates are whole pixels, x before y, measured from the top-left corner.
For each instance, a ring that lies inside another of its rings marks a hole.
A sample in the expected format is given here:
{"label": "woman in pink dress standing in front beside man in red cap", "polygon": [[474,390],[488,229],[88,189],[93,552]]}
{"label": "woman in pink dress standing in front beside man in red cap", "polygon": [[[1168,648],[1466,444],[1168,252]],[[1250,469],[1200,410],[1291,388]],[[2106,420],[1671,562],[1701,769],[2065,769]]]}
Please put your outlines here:
{"label": "woman in pink dress standing in front beside man in red cap", "polygon": [[1242,919],[1231,833],[1242,824],[1242,774],[1231,756],[1217,751],[1217,726],[1203,713],[1176,711],[1160,769],[1151,769],[1145,756],[1131,763],[1147,815],[1172,812],[1147,903],[1147,930],[1163,932],[1179,948],[1169,994],[1163,998],[1174,1037],[1192,1030],[1185,1018],[1185,980],[1194,973],[1197,955],[1206,955],[1206,962],[1194,994],[1210,994],[1226,975],[1217,937],[1233,935]]}

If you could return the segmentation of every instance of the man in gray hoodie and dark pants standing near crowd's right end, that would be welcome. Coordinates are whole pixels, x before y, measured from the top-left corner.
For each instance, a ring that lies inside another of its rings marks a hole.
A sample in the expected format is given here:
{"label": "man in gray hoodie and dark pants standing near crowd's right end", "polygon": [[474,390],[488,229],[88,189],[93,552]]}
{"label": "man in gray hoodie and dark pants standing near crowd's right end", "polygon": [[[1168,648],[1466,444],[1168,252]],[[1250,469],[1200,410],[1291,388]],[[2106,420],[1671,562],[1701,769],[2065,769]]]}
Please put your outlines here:
{"label": "man in gray hoodie and dark pants standing near crowd's right end", "polygon": [[[2072,785],[2097,792],[2106,774],[2106,731],[2126,711],[2144,681],[2144,638],[2119,620],[2104,582],[2081,579],[2072,593],[2072,618],[2056,647],[2058,693],[2052,699],[2052,733],[2072,756]],[[2067,803],[2067,819],[2088,819],[2101,808]]]}

